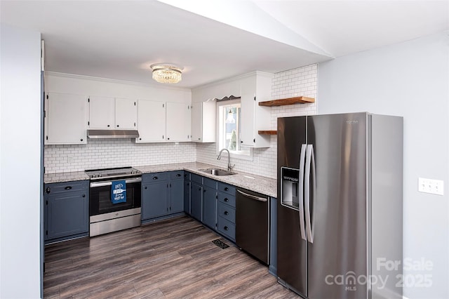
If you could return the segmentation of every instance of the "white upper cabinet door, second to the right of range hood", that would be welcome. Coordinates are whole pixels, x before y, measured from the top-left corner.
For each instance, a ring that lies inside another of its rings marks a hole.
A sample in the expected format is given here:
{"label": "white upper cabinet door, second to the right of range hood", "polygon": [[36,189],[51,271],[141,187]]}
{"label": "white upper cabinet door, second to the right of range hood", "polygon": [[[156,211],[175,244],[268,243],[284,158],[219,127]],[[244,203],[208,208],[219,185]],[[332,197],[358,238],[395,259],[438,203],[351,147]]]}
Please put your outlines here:
{"label": "white upper cabinet door, second to the right of range hood", "polygon": [[188,104],[167,102],[167,141],[190,141],[192,111]]}

